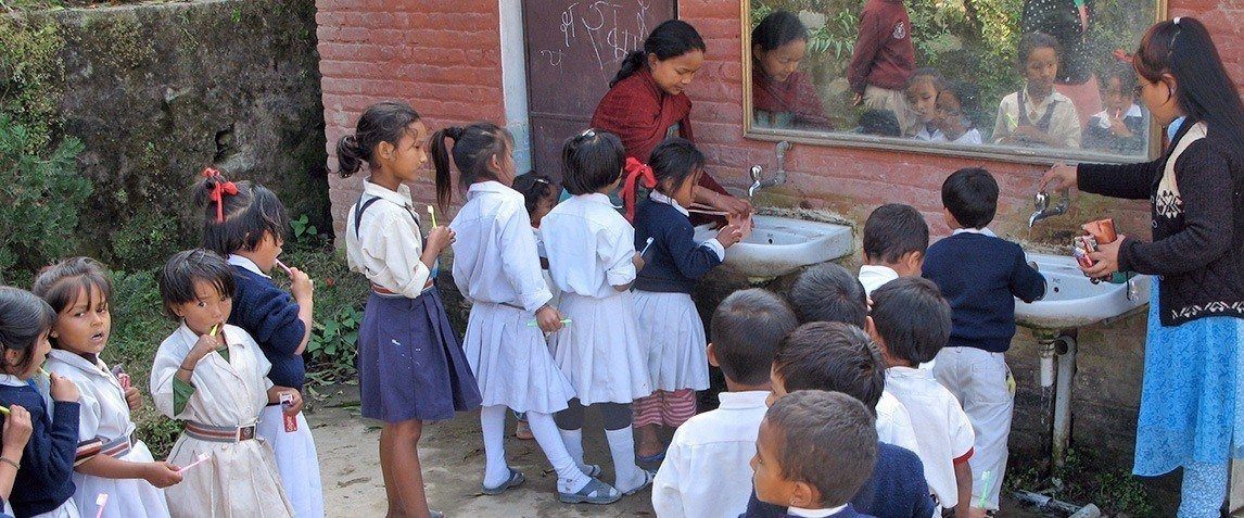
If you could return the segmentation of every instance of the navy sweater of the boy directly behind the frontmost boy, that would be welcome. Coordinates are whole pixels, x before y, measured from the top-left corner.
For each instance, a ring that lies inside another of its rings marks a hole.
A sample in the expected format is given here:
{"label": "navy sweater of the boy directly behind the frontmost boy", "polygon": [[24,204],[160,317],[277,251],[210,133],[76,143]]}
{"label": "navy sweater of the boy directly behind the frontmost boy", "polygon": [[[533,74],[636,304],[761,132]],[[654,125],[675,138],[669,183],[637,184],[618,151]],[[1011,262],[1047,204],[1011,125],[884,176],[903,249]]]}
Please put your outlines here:
{"label": "navy sweater of the boy directly behind the frontmost boy", "polygon": [[[877,443],[877,464],[863,487],[851,498],[851,506],[862,514],[877,518],[928,518],[933,516],[933,497],[924,479],[924,464],[911,451]],[[853,511],[852,511],[853,513]],[[746,518],[781,518],[786,508],[760,502],[751,491]],[[838,516],[838,514],[835,514]],[[741,517],[740,517],[741,518]]]}

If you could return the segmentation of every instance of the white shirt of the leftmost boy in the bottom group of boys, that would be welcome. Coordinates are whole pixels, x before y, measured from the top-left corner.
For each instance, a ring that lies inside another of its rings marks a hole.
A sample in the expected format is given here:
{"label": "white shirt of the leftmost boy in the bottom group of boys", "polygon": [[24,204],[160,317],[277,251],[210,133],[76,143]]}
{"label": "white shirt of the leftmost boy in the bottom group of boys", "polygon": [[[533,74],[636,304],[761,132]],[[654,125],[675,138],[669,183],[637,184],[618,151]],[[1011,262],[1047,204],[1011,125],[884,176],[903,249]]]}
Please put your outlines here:
{"label": "white shirt of the leftmost boy in the bottom group of boys", "polygon": [[652,481],[652,508],[661,518],[736,517],[748,511],[751,457],[769,391],[718,397],[717,410],[692,417],[669,441]]}

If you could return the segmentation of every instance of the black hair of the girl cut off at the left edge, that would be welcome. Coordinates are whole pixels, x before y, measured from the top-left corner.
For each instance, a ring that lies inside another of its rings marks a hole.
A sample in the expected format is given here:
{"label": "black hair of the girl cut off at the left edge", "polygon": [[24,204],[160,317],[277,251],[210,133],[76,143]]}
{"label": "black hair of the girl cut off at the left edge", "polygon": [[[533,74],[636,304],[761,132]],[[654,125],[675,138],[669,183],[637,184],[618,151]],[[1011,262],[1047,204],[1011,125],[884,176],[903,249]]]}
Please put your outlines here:
{"label": "black hair of the girl cut off at the left edge", "polygon": [[[22,289],[0,286],[0,366],[4,371],[16,375],[30,369],[35,347],[55,323],[56,311],[44,299]],[[9,364],[9,351],[19,351],[16,364]]]}

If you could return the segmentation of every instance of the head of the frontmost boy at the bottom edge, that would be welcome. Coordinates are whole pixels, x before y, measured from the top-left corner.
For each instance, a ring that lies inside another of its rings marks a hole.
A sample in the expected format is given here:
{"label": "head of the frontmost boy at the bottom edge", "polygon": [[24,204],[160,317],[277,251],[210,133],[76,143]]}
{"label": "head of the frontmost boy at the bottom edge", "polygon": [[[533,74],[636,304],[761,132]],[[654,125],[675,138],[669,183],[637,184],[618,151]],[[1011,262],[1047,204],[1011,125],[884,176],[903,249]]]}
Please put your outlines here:
{"label": "head of the frontmost boy at the bottom edge", "polygon": [[872,415],[841,392],[805,390],[782,397],[760,423],[751,459],[761,502],[790,506],[786,517],[868,517],[848,499],[877,461]]}

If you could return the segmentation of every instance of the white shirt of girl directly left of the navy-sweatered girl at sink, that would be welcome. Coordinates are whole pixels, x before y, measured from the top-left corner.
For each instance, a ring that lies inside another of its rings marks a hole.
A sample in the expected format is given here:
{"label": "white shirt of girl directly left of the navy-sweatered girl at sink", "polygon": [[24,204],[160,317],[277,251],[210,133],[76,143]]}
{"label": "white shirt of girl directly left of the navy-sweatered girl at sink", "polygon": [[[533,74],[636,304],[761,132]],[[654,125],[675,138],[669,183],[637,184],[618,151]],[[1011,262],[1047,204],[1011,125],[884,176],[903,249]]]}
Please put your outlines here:
{"label": "white shirt of girl directly left of the navy-sweatered girl at sink", "polygon": [[564,294],[596,299],[634,281],[634,228],[605,194],[571,197],[540,220],[549,274]]}

